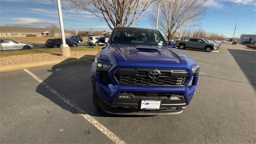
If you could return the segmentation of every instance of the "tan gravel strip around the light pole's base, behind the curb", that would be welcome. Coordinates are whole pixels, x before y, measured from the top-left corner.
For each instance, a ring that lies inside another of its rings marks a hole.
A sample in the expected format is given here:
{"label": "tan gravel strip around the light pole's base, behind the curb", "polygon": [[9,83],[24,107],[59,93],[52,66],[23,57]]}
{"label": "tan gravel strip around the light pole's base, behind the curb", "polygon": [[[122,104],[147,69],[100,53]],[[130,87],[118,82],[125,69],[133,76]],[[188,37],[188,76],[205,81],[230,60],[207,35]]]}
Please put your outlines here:
{"label": "tan gravel strip around the light pole's base, behind the curb", "polygon": [[71,51],[70,57],[60,56],[60,52],[53,53],[38,53],[38,54],[23,54],[23,55],[13,55],[13,56],[1,56],[0,65],[4,64],[20,64],[25,62],[38,62],[44,60],[64,60],[66,58],[81,58],[86,55],[96,55],[98,51]]}

